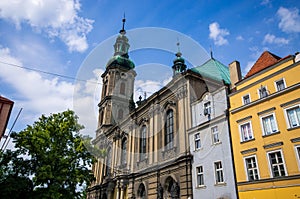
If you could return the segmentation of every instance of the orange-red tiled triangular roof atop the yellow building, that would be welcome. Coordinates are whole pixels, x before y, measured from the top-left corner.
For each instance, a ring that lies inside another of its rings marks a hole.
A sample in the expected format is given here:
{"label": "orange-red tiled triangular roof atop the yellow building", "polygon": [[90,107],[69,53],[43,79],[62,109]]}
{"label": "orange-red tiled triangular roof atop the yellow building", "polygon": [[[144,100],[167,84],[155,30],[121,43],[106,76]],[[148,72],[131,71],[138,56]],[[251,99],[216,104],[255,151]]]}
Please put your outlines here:
{"label": "orange-red tiled triangular roof atop the yellow building", "polygon": [[245,78],[258,73],[259,71],[279,62],[280,60],[281,57],[278,57],[277,55],[274,55],[269,51],[263,52],[255,62],[255,64],[252,66],[252,68],[249,70],[249,72],[246,74]]}

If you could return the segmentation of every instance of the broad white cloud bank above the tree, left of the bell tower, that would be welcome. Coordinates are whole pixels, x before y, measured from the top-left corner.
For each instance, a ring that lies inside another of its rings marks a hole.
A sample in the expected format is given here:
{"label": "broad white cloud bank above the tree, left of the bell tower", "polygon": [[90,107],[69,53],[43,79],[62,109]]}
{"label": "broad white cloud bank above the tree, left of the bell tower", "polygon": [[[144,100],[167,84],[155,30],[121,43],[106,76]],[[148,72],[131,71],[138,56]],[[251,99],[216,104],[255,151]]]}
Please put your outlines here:
{"label": "broad white cloud bank above the tree, left of the bell tower", "polygon": [[[22,62],[13,57],[8,48],[0,48],[0,61],[22,66]],[[24,108],[21,115],[24,127],[32,124],[41,114],[48,115],[74,109],[74,104],[77,103],[75,112],[79,116],[79,123],[86,127],[83,133],[94,134],[97,116],[93,112],[99,102],[101,91],[98,91],[99,87],[93,82],[97,82],[98,73],[101,71],[95,70],[94,78],[79,84],[63,81],[57,77],[44,77],[37,72],[3,63],[0,63],[0,70],[1,82],[12,87],[15,92],[13,99],[12,96],[7,97],[15,101],[15,108]]]}

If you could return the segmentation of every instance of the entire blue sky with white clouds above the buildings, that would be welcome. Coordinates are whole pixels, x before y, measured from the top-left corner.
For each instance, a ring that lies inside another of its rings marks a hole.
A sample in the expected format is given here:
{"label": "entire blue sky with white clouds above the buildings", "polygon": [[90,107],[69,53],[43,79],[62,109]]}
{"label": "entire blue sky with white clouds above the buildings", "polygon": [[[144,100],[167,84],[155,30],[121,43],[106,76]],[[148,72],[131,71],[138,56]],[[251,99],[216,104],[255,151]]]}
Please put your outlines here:
{"label": "entire blue sky with white clouds above the buildings", "polygon": [[[170,80],[178,41],[189,67],[207,59],[203,51],[211,48],[225,65],[240,61],[243,74],[265,50],[280,57],[300,51],[299,10],[296,0],[0,1],[0,95],[15,102],[8,127],[20,108],[15,131],[41,114],[75,108],[93,134],[99,75],[112,56],[124,13],[131,50],[136,49],[130,56],[138,73],[137,99]],[[170,37],[154,36],[157,29]]]}

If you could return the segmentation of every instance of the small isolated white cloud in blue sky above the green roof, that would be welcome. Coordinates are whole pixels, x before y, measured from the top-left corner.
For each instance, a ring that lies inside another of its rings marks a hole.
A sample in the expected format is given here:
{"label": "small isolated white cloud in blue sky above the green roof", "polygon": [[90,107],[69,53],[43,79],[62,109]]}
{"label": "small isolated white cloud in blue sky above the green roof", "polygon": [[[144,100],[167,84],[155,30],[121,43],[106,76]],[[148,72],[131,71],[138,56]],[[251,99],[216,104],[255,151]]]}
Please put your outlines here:
{"label": "small isolated white cloud in blue sky above the green roof", "polygon": [[215,45],[222,46],[228,44],[228,40],[225,36],[229,35],[229,31],[226,29],[220,29],[217,22],[209,24],[209,38],[214,40]]}

